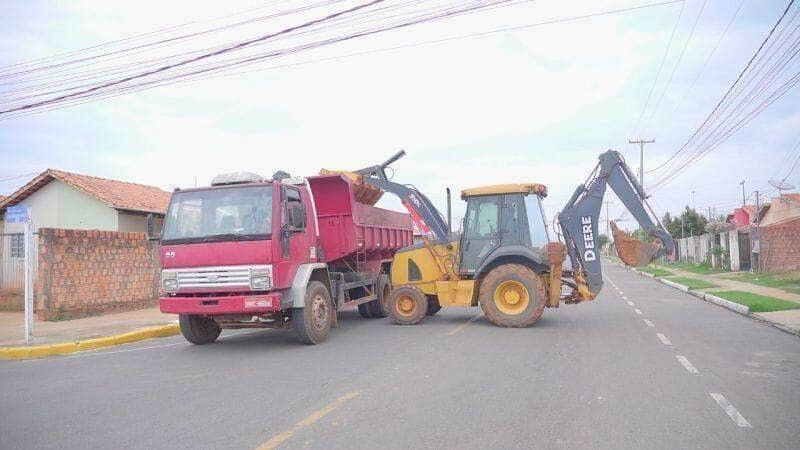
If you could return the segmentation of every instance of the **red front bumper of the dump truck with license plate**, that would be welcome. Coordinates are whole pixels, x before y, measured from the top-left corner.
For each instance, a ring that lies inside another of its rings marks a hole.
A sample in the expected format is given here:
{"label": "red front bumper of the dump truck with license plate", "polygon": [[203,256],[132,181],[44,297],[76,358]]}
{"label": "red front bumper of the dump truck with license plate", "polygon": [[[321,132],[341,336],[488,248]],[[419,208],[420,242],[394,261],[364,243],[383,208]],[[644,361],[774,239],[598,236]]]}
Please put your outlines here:
{"label": "red front bumper of the dump truck with license plate", "polygon": [[223,297],[161,297],[158,305],[170,314],[250,314],[279,311],[281,293]]}

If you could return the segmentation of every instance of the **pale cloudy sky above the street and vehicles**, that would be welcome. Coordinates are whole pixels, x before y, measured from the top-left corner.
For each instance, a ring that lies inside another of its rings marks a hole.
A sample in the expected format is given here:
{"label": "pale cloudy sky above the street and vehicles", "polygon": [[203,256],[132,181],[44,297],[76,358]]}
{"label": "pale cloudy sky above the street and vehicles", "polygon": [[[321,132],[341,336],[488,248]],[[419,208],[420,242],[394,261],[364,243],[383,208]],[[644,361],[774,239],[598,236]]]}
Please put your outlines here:
{"label": "pale cloudy sky above the street and vehicles", "polygon": [[[242,11],[254,17],[301,3],[310,2],[5,1],[0,3],[0,66],[189,21],[208,28],[207,19]],[[339,3],[261,22],[258,29],[205,36],[191,45],[208,47],[270,32],[358,2]],[[439,205],[447,186],[457,191],[537,181],[550,189],[546,204],[552,217],[602,151],[622,152],[634,170],[639,151],[629,139],[656,140],[646,147],[645,168],[673,153],[744,68],[786,1],[688,0],[682,12],[681,3],[672,3],[409,44],[649,3],[656,1],[520,2],[239,71],[246,73],[0,120],[0,180],[50,167],[170,189],[204,185],[226,171],[271,175],[282,169],[308,175],[321,168],[355,169],[405,149],[408,155],[396,163],[395,179],[416,185]],[[332,58],[397,46],[404,48]],[[0,76],[0,91],[6,89]],[[643,110],[651,89],[649,108]],[[798,105],[800,92],[789,91],[654,190],[659,215],[691,205],[692,191],[698,209],[728,211],[741,202],[742,179],[748,195],[771,190],[768,179],[785,176],[798,151]],[[660,175],[646,175],[645,184]],[[0,194],[28,179],[0,181]],[[800,169],[788,181],[800,182]],[[609,199],[616,200],[613,193]],[[385,205],[397,206],[391,200]],[[461,206],[455,211],[460,214]],[[612,218],[620,212],[616,200]]]}

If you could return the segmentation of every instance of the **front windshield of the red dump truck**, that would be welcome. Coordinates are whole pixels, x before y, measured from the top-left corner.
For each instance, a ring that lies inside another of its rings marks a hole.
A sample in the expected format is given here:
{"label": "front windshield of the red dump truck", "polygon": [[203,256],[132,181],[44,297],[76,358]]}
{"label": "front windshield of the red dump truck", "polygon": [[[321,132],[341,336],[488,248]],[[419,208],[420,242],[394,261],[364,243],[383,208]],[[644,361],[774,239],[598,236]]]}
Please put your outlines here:
{"label": "front windshield of the red dump truck", "polygon": [[272,233],[272,187],[176,192],[162,241],[267,239]]}

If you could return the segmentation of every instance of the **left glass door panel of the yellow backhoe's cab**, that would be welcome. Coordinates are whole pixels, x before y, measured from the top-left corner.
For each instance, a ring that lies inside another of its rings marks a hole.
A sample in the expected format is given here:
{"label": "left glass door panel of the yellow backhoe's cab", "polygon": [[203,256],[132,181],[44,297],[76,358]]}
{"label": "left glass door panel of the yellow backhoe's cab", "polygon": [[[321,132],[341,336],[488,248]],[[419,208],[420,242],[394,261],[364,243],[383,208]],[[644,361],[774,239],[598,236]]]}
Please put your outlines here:
{"label": "left glass door panel of the yellow backhoe's cab", "polygon": [[500,245],[502,196],[470,197],[461,235],[459,271],[474,273],[481,262]]}

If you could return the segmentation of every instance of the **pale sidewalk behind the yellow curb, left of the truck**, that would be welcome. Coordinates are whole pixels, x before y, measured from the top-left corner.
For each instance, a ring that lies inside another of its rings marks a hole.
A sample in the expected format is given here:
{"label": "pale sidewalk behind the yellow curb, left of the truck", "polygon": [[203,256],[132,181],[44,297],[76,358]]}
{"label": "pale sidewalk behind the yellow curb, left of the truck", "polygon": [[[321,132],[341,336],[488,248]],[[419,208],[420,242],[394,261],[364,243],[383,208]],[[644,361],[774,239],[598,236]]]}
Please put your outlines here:
{"label": "pale sidewalk behind the yellow curb, left of the truck", "polygon": [[[164,325],[178,319],[158,307],[60,322],[34,320],[31,345],[58,344],[127,333],[144,327]],[[0,312],[0,347],[25,345],[23,312]]]}

